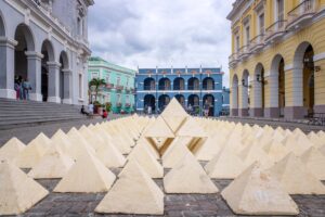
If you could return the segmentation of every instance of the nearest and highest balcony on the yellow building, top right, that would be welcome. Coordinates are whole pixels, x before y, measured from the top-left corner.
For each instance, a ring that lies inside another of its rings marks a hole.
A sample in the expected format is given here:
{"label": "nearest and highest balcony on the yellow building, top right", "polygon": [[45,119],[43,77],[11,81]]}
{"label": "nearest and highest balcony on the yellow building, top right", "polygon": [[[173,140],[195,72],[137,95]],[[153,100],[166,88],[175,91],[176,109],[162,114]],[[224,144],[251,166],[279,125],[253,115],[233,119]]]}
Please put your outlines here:
{"label": "nearest and highest balcony on the yellow building, top right", "polygon": [[304,0],[288,13],[288,30],[298,29],[312,20],[315,14],[315,1]]}

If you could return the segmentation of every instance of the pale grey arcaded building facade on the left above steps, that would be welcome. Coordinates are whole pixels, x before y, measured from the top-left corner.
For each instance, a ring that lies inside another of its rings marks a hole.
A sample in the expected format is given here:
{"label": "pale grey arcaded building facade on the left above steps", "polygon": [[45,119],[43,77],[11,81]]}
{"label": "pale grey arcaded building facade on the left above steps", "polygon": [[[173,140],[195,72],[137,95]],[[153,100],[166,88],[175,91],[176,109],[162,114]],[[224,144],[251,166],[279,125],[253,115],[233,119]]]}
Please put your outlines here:
{"label": "pale grey arcaded building facade on the left above steps", "polygon": [[88,102],[88,8],[93,0],[0,1],[0,98],[15,99],[14,78],[30,100]]}

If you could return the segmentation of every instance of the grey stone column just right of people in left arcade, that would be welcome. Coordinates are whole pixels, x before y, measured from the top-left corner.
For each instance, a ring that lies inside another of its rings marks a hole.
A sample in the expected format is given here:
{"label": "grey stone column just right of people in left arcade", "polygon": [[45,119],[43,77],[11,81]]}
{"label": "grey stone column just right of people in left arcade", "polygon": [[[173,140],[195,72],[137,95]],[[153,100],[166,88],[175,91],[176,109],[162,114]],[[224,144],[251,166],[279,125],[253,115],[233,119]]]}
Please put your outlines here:
{"label": "grey stone column just right of people in left arcade", "polygon": [[42,101],[41,94],[41,59],[43,55],[35,51],[26,51],[27,56],[27,75],[28,81],[31,86],[29,97],[32,101]]}

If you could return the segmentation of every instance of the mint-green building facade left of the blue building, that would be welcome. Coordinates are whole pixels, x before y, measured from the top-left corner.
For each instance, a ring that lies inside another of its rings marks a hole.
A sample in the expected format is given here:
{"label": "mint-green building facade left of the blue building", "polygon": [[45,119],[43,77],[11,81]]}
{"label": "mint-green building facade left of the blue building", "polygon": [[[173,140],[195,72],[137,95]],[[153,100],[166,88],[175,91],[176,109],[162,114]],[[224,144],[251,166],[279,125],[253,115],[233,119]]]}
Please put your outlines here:
{"label": "mint-green building facade left of the blue building", "polygon": [[[109,102],[113,113],[134,111],[135,71],[108,63],[101,58],[90,58],[88,72],[89,81],[100,78],[106,82],[106,86],[100,89],[96,99],[101,104]],[[94,92],[90,91],[92,92],[91,99],[94,101]]]}

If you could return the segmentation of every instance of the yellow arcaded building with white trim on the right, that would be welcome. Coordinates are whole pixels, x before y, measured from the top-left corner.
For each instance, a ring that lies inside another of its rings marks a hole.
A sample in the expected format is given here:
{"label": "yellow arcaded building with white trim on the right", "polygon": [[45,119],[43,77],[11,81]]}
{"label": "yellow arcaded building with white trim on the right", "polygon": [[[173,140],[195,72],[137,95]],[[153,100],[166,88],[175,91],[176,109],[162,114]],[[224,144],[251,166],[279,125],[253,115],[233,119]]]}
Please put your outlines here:
{"label": "yellow arcaded building with white trim on the right", "polygon": [[227,20],[233,116],[325,113],[325,0],[236,0]]}

